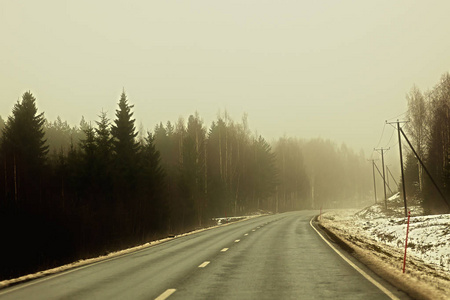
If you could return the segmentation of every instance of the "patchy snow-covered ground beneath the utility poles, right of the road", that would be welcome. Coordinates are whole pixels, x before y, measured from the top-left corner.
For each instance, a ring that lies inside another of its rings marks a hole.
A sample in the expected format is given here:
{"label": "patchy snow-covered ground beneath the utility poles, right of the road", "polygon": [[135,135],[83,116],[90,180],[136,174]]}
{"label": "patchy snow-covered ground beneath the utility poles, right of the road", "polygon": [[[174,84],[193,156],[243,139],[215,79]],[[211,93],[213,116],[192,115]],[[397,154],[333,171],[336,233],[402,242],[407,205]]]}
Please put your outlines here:
{"label": "patchy snow-covered ground beneath the utility poles, right of the road", "polygon": [[[403,202],[394,195],[388,202],[363,210],[329,211],[321,224],[347,244],[392,267],[401,274],[407,218]],[[450,214],[423,216],[420,206],[411,211],[407,273],[450,294]],[[367,254],[367,253],[366,253]],[[397,274],[396,276],[398,276]]]}

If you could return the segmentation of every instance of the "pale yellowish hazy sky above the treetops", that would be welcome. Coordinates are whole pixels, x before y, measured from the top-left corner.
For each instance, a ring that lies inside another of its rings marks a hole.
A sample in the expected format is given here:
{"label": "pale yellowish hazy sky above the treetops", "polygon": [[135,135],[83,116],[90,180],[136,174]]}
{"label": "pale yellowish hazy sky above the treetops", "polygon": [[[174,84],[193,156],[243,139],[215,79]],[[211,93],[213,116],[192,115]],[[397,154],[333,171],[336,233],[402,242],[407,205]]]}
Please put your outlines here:
{"label": "pale yellowish hazy sky above the treetops", "polygon": [[269,141],[370,155],[412,85],[449,71],[449,12],[446,0],[0,0],[0,115],[31,90],[49,120],[113,119],[125,88],[146,129],[246,112]]}

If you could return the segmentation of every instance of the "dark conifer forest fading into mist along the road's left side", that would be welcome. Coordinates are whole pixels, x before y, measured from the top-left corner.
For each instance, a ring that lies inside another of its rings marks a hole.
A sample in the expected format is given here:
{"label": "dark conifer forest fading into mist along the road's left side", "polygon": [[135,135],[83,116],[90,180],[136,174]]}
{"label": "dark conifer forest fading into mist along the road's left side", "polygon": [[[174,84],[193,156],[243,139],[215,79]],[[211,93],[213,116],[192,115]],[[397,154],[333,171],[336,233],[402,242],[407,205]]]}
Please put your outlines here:
{"label": "dark conifer forest fading into mist along the road's left side", "polygon": [[268,142],[246,115],[219,114],[207,127],[194,113],[138,132],[125,92],[113,120],[101,111],[78,126],[47,120],[36,101],[25,92],[0,118],[0,279],[210,226],[213,217],[372,199],[362,151],[323,139]]}

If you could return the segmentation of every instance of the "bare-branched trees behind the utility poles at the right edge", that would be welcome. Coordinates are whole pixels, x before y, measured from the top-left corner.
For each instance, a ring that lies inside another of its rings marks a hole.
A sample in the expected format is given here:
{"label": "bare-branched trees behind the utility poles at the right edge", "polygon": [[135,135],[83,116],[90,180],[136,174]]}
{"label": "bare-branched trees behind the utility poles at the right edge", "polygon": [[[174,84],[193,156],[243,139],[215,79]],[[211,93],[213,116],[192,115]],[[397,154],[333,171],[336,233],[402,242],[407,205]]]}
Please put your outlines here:
{"label": "bare-branched trees behind the utility poles at the right edge", "polygon": [[405,187],[408,199],[419,200],[427,213],[450,210],[450,74],[422,93],[413,86],[407,95],[405,133],[444,195],[440,195],[408,146]]}

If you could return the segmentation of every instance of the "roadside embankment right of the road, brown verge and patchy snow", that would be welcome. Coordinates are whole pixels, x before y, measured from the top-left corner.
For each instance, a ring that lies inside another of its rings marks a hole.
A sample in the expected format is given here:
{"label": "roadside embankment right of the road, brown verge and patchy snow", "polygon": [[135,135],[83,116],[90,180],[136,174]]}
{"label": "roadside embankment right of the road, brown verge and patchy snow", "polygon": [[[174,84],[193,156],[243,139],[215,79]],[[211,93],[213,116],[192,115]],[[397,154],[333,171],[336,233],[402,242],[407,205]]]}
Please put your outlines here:
{"label": "roadside embankment right of the road, brown verge and patchy snow", "polygon": [[411,218],[405,273],[406,218],[395,211],[375,205],[331,211],[318,223],[342,248],[412,298],[448,299],[450,215]]}

